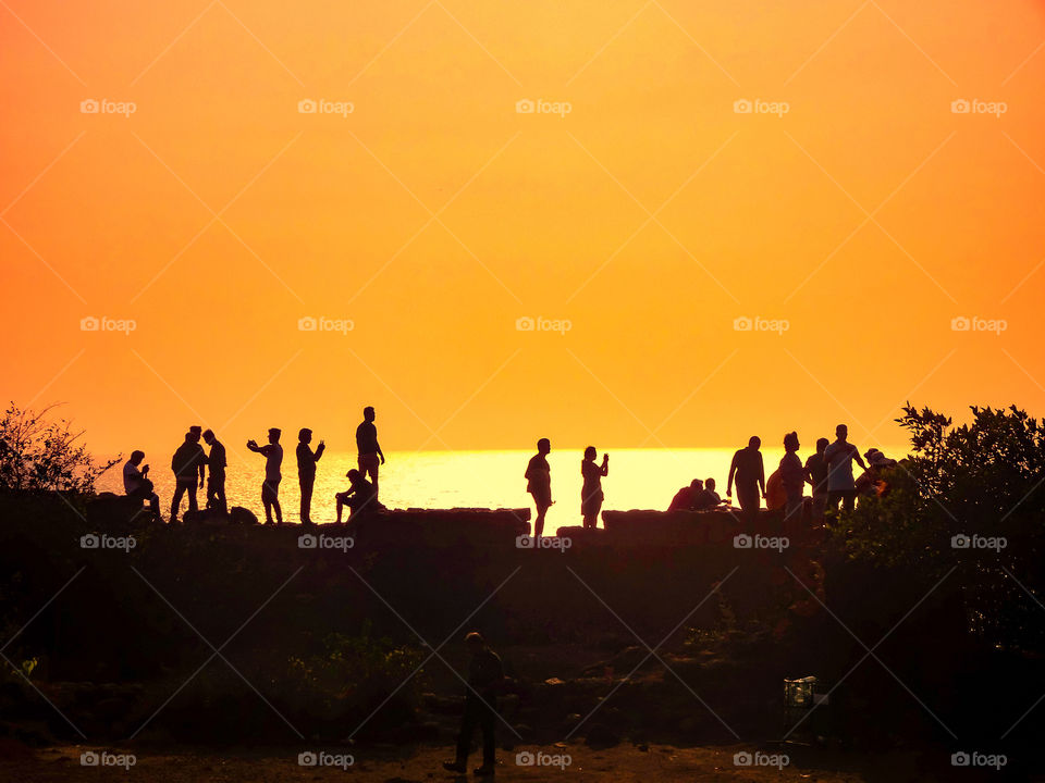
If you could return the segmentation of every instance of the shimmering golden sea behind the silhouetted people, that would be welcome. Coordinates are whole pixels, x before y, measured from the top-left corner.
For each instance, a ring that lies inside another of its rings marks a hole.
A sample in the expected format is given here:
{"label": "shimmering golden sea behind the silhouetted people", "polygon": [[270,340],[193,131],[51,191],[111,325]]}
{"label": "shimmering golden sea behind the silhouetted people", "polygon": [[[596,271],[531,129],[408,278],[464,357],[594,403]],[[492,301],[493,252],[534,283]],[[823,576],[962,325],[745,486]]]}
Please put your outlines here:
{"label": "shimmering golden sea behind the silhouetted people", "polygon": [[[280,502],[284,522],[298,522],[300,493],[294,447],[285,446]],[[679,487],[693,478],[714,477],[718,494],[725,497],[729,460],[735,449],[624,449],[610,450],[610,475],[602,480],[603,509],[666,509]],[[895,449],[884,449],[899,456]],[[779,464],[783,449],[762,449],[769,476]],[[532,507],[522,473],[533,451],[422,451],[390,452],[381,468],[381,501],[389,508],[524,508]],[[802,459],[808,456],[803,450]],[[602,460],[602,452],[599,453]],[[164,518],[170,510],[173,474],[170,457],[146,459],[151,462],[150,478],[160,496]],[[552,499],[548,525],[580,524],[581,451],[553,451]],[[345,473],[356,467],[355,453],[328,451],[317,465],[312,493],[312,520],[334,521],[334,493],[348,486]],[[99,490],[123,492],[121,465],[98,483]],[[230,506],[244,506],[263,519],[261,480],[265,460],[244,451],[229,449],[225,492]],[[200,490],[200,506],[204,494]],[[182,501],[183,511],[185,501]],[[347,510],[346,510],[347,513]]]}

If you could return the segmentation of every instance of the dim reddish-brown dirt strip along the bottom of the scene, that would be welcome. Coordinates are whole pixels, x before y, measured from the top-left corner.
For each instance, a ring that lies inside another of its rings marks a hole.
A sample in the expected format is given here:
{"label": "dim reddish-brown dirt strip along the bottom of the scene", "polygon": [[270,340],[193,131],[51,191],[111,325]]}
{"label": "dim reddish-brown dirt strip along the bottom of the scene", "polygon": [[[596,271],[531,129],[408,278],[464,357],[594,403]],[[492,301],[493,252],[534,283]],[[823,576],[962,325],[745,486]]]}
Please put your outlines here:
{"label": "dim reddish-brown dirt strip along the bottom of the scene", "polygon": [[[4,781],[156,781],[157,783],[238,783],[239,781],[381,781],[382,783],[427,783],[427,781],[478,780],[471,774],[445,772],[447,758],[443,746],[411,748],[331,748],[330,753],[353,754],[347,769],[302,767],[296,749],[237,748],[217,753],[210,749],[139,750],[130,770],[81,766],[81,754],[101,748],[63,745],[38,750],[0,746],[0,779]],[[519,751],[540,749],[546,754],[568,755],[570,763],[557,767],[522,767],[516,763]],[[119,751],[118,748],[110,750]],[[564,747],[520,746],[501,751],[495,779],[499,781],[619,781],[654,783],[659,781],[821,781],[857,783],[862,781],[979,781],[1015,780],[1003,772],[974,772],[941,768],[939,759],[925,751],[865,754],[816,750],[784,745],[766,747],[766,755],[787,754],[789,761],[776,767],[737,767],[734,756],[755,753],[749,745],[722,747],[675,747],[671,745],[619,745],[592,749],[583,744]],[[1045,780],[1021,778],[1021,780]]]}

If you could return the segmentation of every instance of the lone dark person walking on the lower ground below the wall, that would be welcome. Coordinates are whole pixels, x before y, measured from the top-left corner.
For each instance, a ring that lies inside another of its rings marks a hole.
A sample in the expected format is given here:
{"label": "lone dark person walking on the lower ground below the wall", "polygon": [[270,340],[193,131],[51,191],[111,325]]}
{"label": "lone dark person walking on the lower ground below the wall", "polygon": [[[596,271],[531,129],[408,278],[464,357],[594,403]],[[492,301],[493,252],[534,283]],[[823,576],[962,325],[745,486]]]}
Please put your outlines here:
{"label": "lone dark person walking on the lower ground below the wall", "polygon": [[468,771],[471,735],[478,726],[482,730],[482,767],[472,771],[477,775],[492,775],[497,763],[494,729],[497,721],[497,694],[504,681],[504,669],[500,656],[490,649],[476,631],[465,636],[465,644],[471,654],[465,714],[460,721],[460,734],[457,735],[457,757],[453,761],[444,761],[443,768],[451,772]]}

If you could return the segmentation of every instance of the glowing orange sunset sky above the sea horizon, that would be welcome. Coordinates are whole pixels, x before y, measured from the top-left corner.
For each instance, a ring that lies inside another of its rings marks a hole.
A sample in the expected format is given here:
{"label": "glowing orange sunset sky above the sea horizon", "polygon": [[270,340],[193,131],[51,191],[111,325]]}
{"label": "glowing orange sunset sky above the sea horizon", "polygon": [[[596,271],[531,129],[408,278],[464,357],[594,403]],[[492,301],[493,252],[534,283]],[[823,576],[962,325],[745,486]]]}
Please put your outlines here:
{"label": "glowing orange sunset sky above the sea horizon", "polygon": [[365,403],[389,450],[1041,413],[1043,41],[1030,1],[4,0],[0,391],[125,452],[351,448]]}

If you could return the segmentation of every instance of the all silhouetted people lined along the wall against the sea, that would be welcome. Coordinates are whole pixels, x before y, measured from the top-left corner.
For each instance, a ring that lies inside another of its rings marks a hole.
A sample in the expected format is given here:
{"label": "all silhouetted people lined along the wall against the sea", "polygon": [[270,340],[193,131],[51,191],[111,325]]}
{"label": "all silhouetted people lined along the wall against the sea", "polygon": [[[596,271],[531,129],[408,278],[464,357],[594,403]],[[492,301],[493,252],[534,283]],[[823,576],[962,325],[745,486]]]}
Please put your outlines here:
{"label": "all silhouetted people lined along the wall against the sea", "polygon": [[[378,430],[374,425],[374,410],[364,408],[362,423],[356,427],[356,447],[358,451],[358,469],[349,470],[346,476],[349,487],[345,492],[334,495],[336,508],[336,523],[342,522],[344,509],[349,510],[349,519],[364,510],[373,511],[383,508],[378,500],[378,474],[384,464],[384,452],[378,443]],[[282,482],[283,447],[280,445],[282,432],[272,427],[268,433],[268,443],[259,446],[256,440],[248,440],[247,448],[265,457],[265,478],[261,483],[261,504],[265,508],[266,524],[283,522],[283,509],[280,506],[280,483]],[[207,444],[209,452],[205,452],[200,440]],[[323,440],[314,449],[312,431],[303,427],[298,432],[297,444],[297,477],[300,487],[300,521],[303,524],[312,524],[311,504],[312,488],[316,484],[316,465],[322,459],[327,445]],[[722,498],[715,490],[715,480],[694,478],[688,486],[676,493],[668,506],[669,511],[709,511],[729,506],[736,488],[737,501],[740,505],[741,517],[748,521],[754,519],[766,500],[771,510],[785,510],[787,517],[801,513],[804,504],[804,488],[812,486],[812,511],[814,517],[823,517],[828,510],[837,510],[839,505],[851,511],[857,496],[861,492],[874,492],[876,472],[882,468],[895,465],[896,461],[885,457],[877,449],[870,449],[861,457],[859,449],[849,443],[849,431],[845,424],[835,427],[835,440],[827,438],[816,440],[816,452],[803,463],[798,455],[801,444],[798,433],[790,432],[784,436],[784,459],[779,470],[765,477],[762,462],[762,440],[755,435],[748,445],[736,451],[729,464],[729,474],[726,481],[726,497]],[[524,477],[527,481],[526,490],[532,496],[537,509],[533,522],[533,535],[540,537],[544,533],[544,520],[548,510],[552,507],[552,478],[548,455],[552,445],[548,438],[537,442],[537,453],[530,458]],[[598,461],[599,452],[594,446],[583,451],[580,462],[582,487],[580,493],[580,515],[585,527],[595,527],[602,510],[604,494],[602,480],[610,474],[610,455],[603,453],[602,461]],[[864,457],[868,462],[864,462]],[[139,497],[147,501],[152,513],[160,518],[160,500],[149,480],[149,465],[143,464],[145,452],[135,450],[123,465],[123,484],[127,495]],[[859,478],[853,477],[852,464],[856,462],[864,470]],[[225,500],[225,468],[228,460],[225,447],[218,440],[213,431],[204,431],[199,426],[192,426],[185,433],[184,442],[177,447],[171,459],[171,470],[174,473],[174,493],[171,498],[170,522],[176,522],[181,510],[182,498],[187,496],[187,511],[198,511],[196,490],[207,487],[206,508],[226,513]]]}

